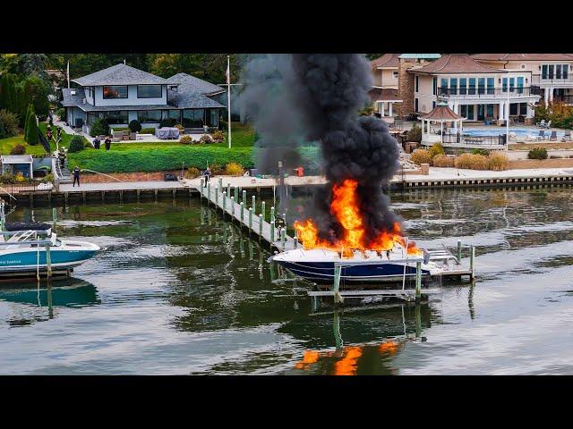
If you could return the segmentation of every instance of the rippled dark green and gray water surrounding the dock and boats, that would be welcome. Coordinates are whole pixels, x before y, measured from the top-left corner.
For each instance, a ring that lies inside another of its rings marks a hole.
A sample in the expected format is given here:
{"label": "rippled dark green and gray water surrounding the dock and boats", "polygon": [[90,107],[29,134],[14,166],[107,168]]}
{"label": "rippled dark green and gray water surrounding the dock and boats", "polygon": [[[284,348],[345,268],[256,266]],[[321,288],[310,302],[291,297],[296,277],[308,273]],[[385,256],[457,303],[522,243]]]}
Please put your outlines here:
{"label": "rippled dark green and gray water surrounding the dock and boats", "polygon": [[[198,199],[58,207],[58,233],[104,249],[53,289],[51,313],[46,290],[0,290],[0,373],[573,373],[571,190],[392,200],[419,243],[478,247],[475,286],[312,312],[304,283]],[[32,217],[52,210],[10,214]]]}

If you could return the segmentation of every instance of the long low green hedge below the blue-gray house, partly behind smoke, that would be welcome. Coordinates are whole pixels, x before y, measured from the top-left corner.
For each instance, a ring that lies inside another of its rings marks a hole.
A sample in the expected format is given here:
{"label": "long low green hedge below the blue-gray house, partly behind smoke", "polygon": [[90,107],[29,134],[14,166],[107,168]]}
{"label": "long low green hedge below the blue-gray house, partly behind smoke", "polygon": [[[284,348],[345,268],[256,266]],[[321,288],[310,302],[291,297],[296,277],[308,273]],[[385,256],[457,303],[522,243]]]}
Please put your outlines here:
{"label": "long low green hedge below the blue-gray house, partly behind smoke", "polygon": [[[255,149],[256,150],[256,149]],[[321,160],[318,147],[301,147],[306,174],[317,173]],[[69,154],[70,164],[96,172],[160,172],[209,164],[237,163],[252,168],[252,147],[173,146],[125,150],[84,150]]]}

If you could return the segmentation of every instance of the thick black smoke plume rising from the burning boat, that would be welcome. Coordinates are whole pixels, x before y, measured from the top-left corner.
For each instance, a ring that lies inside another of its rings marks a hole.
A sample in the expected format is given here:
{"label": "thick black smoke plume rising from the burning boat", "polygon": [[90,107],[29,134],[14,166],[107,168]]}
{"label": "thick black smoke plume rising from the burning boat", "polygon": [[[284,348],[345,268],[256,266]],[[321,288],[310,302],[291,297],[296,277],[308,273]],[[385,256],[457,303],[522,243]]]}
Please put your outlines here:
{"label": "thick black smoke plume rising from the burning boat", "polygon": [[386,123],[358,117],[372,88],[370,64],[357,54],[293,55],[292,64],[295,105],[302,113],[306,137],[321,141],[324,171],[330,182],[315,194],[314,206],[306,214],[315,220],[321,238],[342,238],[342,227],[330,214],[330,189],[333,183],[354,179],[368,244],[381,231],[392,231],[398,221],[382,185],[399,168],[398,145]]}

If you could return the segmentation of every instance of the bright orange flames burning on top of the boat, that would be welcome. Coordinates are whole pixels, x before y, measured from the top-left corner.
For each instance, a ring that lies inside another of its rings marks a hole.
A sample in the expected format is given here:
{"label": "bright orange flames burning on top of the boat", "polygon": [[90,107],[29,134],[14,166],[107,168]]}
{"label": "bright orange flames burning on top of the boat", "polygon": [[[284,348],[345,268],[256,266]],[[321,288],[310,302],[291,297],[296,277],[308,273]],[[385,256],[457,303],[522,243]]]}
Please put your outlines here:
{"label": "bright orange flames burning on top of the boat", "polygon": [[[356,195],[358,182],[346,179],[342,184],[332,186],[332,201],[330,213],[333,214],[344,228],[344,237],[337,242],[322,240],[318,236],[318,228],[312,219],[304,222],[295,222],[295,231],[298,240],[306,249],[329,248],[331,250],[343,249],[346,257],[352,257],[351,249],[385,251],[394,248],[396,243],[406,247],[406,240],[401,235],[399,223],[394,223],[392,231],[382,231],[375,240],[368,245],[365,243],[365,229],[360,215],[360,204]],[[421,250],[414,243],[408,243],[407,253],[419,255]]]}

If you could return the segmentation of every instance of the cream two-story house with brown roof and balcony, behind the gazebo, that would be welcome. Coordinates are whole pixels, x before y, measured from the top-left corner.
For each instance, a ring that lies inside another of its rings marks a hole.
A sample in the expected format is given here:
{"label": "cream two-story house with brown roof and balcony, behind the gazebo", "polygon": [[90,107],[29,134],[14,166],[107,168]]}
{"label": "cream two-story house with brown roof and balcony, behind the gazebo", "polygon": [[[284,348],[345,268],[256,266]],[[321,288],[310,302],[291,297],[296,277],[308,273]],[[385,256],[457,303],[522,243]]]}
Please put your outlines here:
{"label": "cream two-story house with brown roof and balcony, behind the gazebo", "polygon": [[540,96],[531,88],[532,71],[503,70],[467,54],[447,54],[408,72],[414,76],[416,113],[429,113],[443,100],[466,121],[534,122]]}

